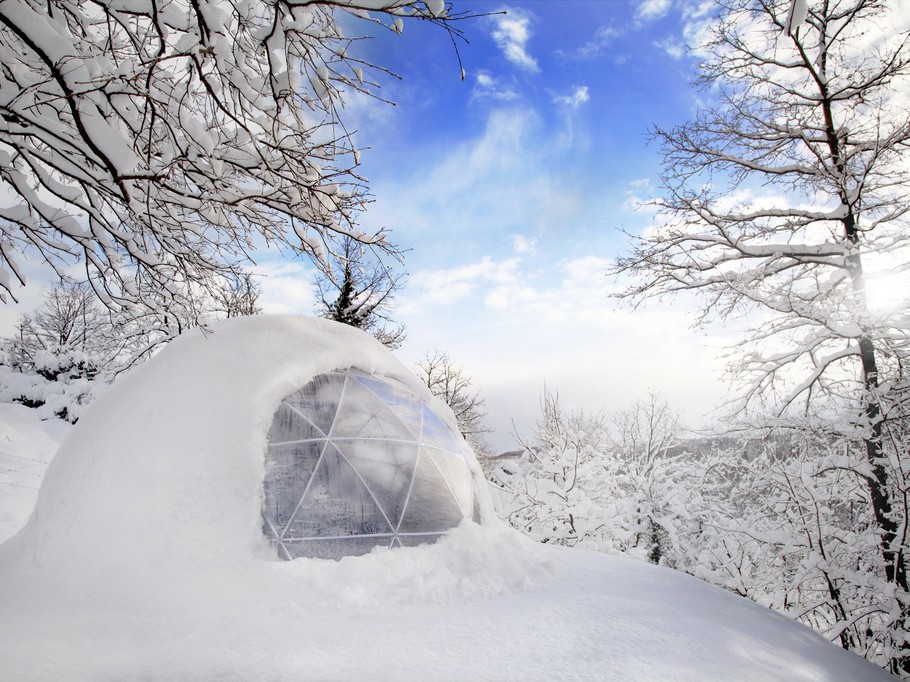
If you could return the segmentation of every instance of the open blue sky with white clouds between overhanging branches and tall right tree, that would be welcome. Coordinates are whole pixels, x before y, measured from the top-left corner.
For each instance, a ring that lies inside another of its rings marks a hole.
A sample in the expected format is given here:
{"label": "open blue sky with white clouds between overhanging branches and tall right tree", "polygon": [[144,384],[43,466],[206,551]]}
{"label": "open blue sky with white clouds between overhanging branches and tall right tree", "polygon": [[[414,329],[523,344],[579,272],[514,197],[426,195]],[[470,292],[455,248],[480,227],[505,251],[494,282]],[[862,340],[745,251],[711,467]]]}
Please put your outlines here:
{"label": "open blue sky with white clouds between overhanging branches and tall right tree", "polygon": [[406,24],[367,57],[389,107],[357,101],[374,203],[369,229],[406,252],[398,314],[412,363],[448,351],[486,397],[490,440],[529,436],[544,386],[567,407],[621,409],[649,388],[693,425],[722,400],[724,330],[690,328],[694,301],[616,309],[604,276],[650,214],[658,185],[652,124],[695,112],[684,44],[701,7],[666,0],[456,3],[507,14],[447,36]]}

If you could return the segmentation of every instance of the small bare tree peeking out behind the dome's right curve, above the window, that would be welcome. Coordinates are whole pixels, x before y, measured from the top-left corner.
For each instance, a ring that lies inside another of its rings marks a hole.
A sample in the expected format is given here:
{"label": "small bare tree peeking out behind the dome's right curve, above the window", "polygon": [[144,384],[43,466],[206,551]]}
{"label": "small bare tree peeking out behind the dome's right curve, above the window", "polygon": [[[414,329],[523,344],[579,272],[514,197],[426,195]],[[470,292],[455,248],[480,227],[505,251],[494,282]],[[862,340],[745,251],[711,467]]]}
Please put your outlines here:
{"label": "small bare tree peeking out behind the dome's right curve, above the window", "polygon": [[452,408],[461,435],[478,455],[485,456],[489,452],[484,440],[484,434],[489,429],[483,423],[487,412],[485,401],[480,391],[474,388],[471,378],[452,362],[448,353],[438,350],[424,355],[414,373],[433,395]]}

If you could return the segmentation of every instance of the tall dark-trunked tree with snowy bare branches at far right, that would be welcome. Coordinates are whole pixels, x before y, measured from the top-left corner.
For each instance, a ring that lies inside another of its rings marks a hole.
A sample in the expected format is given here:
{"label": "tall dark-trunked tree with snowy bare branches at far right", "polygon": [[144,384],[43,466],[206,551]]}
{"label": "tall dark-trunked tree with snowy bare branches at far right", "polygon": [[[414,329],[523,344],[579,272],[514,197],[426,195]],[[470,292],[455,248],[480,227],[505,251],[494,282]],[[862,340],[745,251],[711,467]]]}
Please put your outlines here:
{"label": "tall dark-trunked tree with snowy bare branches at far right", "polygon": [[[874,570],[905,595],[906,618],[906,488],[892,477],[902,455],[884,445],[882,399],[905,362],[910,319],[906,305],[876,305],[868,282],[910,271],[910,109],[900,98],[910,45],[888,27],[889,3],[797,4],[801,23],[788,18],[790,0],[720,3],[701,46],[709,104],[654,131],[662,222],[615,272],[633,276],[624,295],[635,300],[701,293],[703,320],[760,311],[734,367],[740,407],[824,408],[837,415],[832,431],[853,425],[880,538]],[[895,665],[910,669],[904,659]]]}

